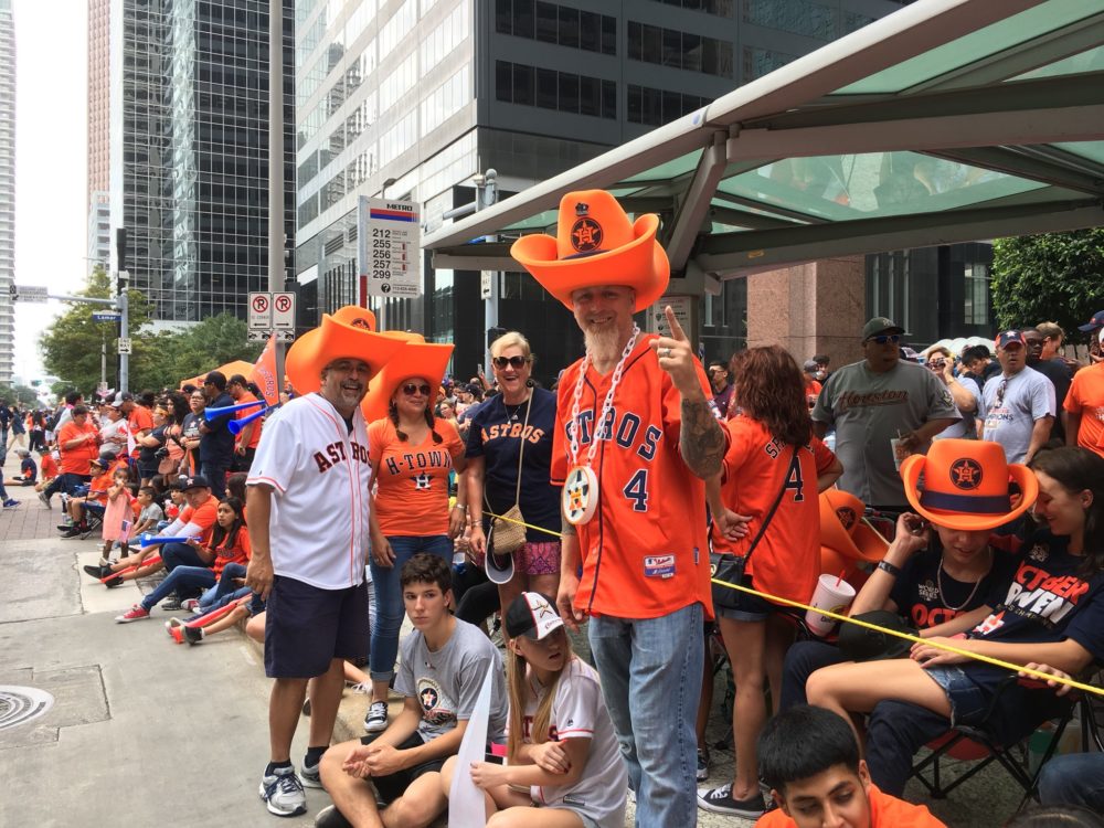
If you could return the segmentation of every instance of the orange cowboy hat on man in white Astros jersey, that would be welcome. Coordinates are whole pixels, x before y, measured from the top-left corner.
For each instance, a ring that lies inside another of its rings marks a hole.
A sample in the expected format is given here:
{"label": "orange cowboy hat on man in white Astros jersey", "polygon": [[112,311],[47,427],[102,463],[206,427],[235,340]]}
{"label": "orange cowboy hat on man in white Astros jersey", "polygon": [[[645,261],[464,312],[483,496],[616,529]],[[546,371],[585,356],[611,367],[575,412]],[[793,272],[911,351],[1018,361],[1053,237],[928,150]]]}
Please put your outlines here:
{"label": "orange cowboy hat on man in white Astros jersey", "polygon": [[284,371],[297,394],[322,386],[322,369],[336,359],[362,359],[372,375],[403,347],[401,340],[375,332],[375,314],[346,305],[322,314],[322,323],[299,337],[287,351]]}

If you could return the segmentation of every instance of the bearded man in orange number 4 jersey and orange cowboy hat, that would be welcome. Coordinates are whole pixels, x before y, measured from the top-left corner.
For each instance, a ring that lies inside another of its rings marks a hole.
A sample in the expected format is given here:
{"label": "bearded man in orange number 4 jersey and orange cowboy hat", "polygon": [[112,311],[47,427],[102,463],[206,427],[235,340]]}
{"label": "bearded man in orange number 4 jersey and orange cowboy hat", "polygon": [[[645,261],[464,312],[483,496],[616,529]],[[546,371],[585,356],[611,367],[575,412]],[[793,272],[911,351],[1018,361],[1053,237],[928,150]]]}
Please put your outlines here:
{"label": "bearded man in orange number 4 jersey and orange cowboy hat", "polygon": [[[633,322],[670,276],[658,227],[656,215],[629,221],[607,192],[573,192],[560,202],[556,236],[523,236],[511,254],[574,312],[586,343],[559,386],[556,603],[572,628],[591,618],[637,825],[676,826],[697,820],[694,718],[702,619],[712,607],[704,485],[679,453],[679,393],[660,368],[656,337]],[[697,360],[693,370],[704,400]]]}

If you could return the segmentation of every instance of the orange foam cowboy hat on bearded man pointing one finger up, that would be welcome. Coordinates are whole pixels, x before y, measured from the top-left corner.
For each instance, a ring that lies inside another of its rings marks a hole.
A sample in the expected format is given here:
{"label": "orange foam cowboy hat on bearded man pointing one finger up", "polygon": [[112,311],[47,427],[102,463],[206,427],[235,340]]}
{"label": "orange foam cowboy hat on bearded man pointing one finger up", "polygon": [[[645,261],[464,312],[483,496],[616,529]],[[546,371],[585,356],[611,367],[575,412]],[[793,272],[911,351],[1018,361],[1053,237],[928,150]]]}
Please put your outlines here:
{"label": "orange foam cowboy hat on bearded man pointing one finger up", "polygon": [[640,311],[654,305],[670,282],[667,253],[656,241],[658,230],[658,215],[647,213],[633,223],[605,190],[581,190],[560,200],[554,238],[546,233],[522,236],[510,255],[569,310],[574,290],[624,285],[636,290]]}

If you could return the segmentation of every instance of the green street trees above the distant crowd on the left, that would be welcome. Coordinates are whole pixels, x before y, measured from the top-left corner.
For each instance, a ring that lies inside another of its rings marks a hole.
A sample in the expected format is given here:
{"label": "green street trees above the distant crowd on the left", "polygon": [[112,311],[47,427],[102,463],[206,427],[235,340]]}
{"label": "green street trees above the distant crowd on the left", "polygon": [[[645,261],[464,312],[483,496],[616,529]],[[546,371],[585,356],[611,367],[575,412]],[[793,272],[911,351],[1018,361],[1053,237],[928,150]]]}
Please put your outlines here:
{"label": "green street trees above the distant crowd on the left", "polygon": [[[78,296],[108,298],[114,286],[102,267],[88,277]],[[130,390],[174,388],[181,379],[194,376],[232,360],[256,360],[262,343],[248,342],[244,321],[231,314],[220,314],[183,330],[150,331],[150,306],[138,290],[128,293],[130,315]],[[42,335],[40,346],[49,373],[62,378],[54,391],[64,393],[77,388],[86,394],[96,388],[100,375],[100,348],[107,342],[107,384],[118,388],[118,326],[94,322],[94,310],[107,309],[72,302],[70,310]]]}

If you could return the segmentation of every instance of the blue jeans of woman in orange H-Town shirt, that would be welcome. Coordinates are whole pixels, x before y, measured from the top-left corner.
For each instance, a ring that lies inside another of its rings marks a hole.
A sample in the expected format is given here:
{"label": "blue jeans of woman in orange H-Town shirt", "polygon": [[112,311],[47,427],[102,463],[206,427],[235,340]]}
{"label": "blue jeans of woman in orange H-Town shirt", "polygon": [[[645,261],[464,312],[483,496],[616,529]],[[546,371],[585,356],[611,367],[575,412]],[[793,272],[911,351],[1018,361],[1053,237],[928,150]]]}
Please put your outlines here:
{"label": "blue jeans of woman in orange H-Town shirt", "polygon": [[403,587],[399,582],[403,564],[420,552],[437,555],[445,563],[453,562],[453,541],[447,534],[428,534],[420,538],[394,535],[388,538],[395,553],[393,566],[380,566],[372,558],[372,588],[375,590],[375,624],[372,625],[372,648],[368,652],[369,675],[372,681],[391,681],[395,675],[399,656],[399,629],[403,625]]}

